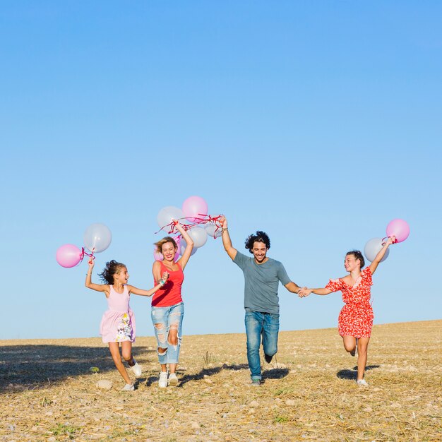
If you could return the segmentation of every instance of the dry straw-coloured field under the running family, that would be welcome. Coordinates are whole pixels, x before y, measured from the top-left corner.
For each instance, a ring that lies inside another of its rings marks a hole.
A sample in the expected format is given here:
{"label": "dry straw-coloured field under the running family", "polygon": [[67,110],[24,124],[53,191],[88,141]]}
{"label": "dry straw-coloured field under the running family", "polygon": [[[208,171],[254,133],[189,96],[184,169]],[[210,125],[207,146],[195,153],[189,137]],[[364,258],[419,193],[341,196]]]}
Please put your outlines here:
{"label": "dry straw-coloured field under the running family", "polygon": [[165,390],[154,338],[137,338],[133,392],[99,338],[0,341],[0,441],[441,441],[441,330],[375,325],[368,388],[335,329],[280,333],[259,388],[244,335],[185,336],[181,384]]}

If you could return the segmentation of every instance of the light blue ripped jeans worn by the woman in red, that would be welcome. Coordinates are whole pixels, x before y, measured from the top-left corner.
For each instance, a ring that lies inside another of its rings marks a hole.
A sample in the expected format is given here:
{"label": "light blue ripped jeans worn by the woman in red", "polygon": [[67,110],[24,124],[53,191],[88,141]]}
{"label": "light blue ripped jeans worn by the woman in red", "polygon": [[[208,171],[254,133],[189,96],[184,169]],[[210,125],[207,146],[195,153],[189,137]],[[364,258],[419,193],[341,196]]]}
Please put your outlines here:
{"label": "light blue ripped jeans worn by the woman in red", "polygon": [[[169,307],[152,307],[151,316],[157,345],[159,348],[167,349],[164,353],[158,352],[158,361],[160,364],[178,364],[184,303],[180,302]],[[173,329],[177,330],[177,345],[170,344],[167,339],[169,330]]]}

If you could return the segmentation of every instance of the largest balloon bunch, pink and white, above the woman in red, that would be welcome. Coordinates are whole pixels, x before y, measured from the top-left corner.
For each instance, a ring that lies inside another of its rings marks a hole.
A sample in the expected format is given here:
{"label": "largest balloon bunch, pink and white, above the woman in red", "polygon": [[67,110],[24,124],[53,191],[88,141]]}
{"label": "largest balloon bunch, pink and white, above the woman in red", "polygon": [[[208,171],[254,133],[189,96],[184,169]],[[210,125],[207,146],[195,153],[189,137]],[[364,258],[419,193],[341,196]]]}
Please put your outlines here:
{"label": "largest balloon bunch, pink and white, above the woman in red", "polygon": [[[208,215],[208,205],[201,196],[189,196],[181,208],[173,205],[162,208],[157,215],[157,223],[160,226],[159,232],[165,229],[167,233],[175,234],[178,231],[173,220],[179,221],[191,239],[193,239],[193,255],[206,243],[208,236],[214,239],[221,236],[221,216]],[[181,234],[174,237],[174,240],[178,246],[178,251],[175,255],[177,260],[186,249],[186,241],[182,239]],[[157,261],[162,261],[162,254],[157,253],[156,249],[153,256]]]}

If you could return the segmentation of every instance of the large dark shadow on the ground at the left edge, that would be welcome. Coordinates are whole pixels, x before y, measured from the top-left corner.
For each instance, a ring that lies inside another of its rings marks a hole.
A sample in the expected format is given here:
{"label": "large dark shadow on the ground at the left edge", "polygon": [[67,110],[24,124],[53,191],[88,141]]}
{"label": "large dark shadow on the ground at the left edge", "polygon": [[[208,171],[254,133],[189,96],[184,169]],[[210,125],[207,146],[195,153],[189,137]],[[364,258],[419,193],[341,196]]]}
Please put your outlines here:
{"label": "large dark shadow on the ground at the left edge", "polygon": [[[155,352],[136,347],[133,355]],[[74,347],[68,345],[6,345],[0,350],[0,394],[8,386],[40,388],[64,381],[69,376],[90,373],[97,366],[100,373],[115,370],[107,347]]]}

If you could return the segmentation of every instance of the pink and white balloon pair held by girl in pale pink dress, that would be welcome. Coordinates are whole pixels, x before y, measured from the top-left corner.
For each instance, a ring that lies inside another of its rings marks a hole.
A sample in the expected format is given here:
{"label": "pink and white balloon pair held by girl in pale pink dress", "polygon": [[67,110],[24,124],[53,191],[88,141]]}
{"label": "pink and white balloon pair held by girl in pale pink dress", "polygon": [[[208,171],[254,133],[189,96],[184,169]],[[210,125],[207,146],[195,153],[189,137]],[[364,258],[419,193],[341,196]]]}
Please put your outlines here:
{"label": "pink and white balloon pair held by girl in pale pink dress", "polygon": [[71,268],[83,261],[85,256],[95,259],[94,253],[100,253],[109,247],[112,233],[106,225],[95,223],[85,230],[83,241],[85,247],[81,250],[74,244],[64,244],[59,247],[55,255],[56,262],[61,267]]}

